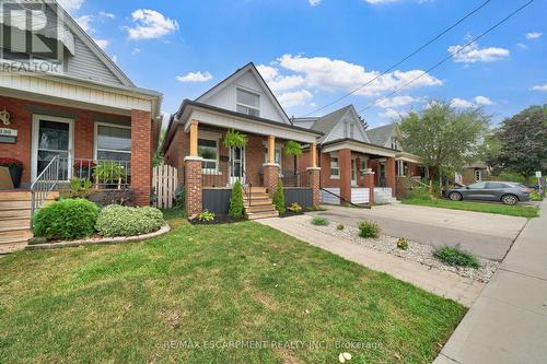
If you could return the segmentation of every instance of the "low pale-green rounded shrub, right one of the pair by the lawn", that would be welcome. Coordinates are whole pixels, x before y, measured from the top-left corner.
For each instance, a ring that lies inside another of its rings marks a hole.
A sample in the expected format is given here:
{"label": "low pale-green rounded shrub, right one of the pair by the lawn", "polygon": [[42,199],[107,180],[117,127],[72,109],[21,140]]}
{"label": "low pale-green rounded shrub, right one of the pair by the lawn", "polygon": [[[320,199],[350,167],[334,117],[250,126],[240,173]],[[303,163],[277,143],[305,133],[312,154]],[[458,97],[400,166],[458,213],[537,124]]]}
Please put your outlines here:
{"label": "low pale-green rounded shrub, right one of the pair by the lawn", "polygon": [[98,214],[95,228],[102,236],[135,236],[155,232],[164,223],[158,209],[110,204]]}

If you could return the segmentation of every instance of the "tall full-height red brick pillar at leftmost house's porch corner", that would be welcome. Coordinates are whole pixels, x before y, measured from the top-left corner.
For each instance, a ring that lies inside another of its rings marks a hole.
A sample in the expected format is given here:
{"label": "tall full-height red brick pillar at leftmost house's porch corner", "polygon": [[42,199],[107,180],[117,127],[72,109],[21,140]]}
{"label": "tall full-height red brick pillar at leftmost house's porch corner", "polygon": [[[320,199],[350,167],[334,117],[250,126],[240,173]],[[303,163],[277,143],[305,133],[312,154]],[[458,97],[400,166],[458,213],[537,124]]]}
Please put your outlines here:
{"label": "tall full-height red brick pillar at leftmost house's porch corner", "polygon": [[153,155],[152,116],[149,111],[131,110],[131,189],[135,203],[149,206],[152,191]]}

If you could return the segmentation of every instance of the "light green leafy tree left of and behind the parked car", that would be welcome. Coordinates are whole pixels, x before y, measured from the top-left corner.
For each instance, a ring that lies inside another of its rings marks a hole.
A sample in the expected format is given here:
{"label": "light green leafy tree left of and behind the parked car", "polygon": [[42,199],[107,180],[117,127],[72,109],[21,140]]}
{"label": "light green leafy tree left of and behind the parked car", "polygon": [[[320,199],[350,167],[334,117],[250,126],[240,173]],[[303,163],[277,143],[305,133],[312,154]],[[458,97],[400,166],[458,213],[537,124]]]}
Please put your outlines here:
{"label": "light green leafy tree left of and behind the parked car", "polygon": [[400,121],[403,146],[420,156],[433,179],[459,171],[481,152],[490,117],[480,108],[458,109],[446,102],[432,102]]}

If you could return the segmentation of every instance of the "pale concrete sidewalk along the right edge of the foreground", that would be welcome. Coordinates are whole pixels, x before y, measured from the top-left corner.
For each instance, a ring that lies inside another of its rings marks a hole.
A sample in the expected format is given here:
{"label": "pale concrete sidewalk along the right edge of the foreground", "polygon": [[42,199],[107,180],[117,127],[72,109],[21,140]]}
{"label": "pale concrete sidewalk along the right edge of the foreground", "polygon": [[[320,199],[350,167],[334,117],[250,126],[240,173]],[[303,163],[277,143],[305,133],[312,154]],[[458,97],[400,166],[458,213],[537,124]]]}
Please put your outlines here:
{"label": "pale concrete sidewalk along the right edge of the foreground", "polygon": [[544,201],[435,364],[547,363],[546,209]]}

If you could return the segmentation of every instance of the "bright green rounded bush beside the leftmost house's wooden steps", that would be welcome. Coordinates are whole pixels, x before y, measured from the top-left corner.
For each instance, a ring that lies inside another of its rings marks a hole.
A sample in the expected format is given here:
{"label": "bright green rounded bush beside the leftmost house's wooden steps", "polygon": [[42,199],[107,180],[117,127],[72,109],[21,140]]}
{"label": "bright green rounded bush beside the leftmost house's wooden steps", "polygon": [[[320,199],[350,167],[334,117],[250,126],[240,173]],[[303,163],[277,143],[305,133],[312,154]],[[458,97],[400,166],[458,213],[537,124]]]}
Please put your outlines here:
{"label": "bright green rounded bush beside the leftmost house's wooden steps", "polygon": [[62,199],[36,212],[34,234],[48,239],[70,240],[93,235],[98,207],[85,199]]}

